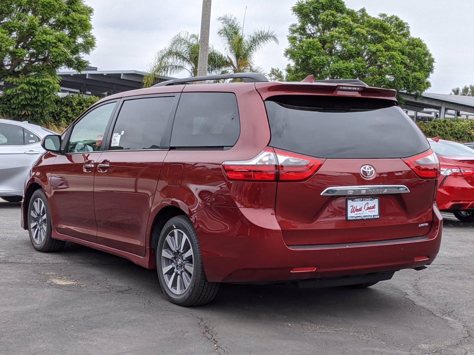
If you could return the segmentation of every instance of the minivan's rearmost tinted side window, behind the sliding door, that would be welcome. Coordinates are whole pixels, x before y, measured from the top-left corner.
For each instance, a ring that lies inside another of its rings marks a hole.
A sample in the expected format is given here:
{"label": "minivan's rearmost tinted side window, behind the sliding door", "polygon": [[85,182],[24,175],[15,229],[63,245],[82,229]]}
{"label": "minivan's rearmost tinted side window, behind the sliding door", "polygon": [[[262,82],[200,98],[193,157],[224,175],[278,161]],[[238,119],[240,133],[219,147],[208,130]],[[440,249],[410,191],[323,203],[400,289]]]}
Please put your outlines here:
{"label": "minivan's rearmost tinted side window, behind the sliding door", "polygon": [[171,134],[172,147],[232,147],[239,134],[234,94],[187,92],[181,95]]}

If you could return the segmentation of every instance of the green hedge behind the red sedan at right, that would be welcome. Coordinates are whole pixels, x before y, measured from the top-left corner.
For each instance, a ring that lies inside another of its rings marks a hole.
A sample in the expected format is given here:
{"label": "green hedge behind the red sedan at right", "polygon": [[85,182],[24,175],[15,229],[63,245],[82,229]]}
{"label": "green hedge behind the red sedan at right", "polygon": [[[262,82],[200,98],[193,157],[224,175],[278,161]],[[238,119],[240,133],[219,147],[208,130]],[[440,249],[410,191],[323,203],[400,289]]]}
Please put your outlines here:
{"label": "green hedge behind the red sedan at right", "polygon": [[460,143],[474,142],[474,120],[444,118],[419,122],[418,126],[429,138],[439,137]]}

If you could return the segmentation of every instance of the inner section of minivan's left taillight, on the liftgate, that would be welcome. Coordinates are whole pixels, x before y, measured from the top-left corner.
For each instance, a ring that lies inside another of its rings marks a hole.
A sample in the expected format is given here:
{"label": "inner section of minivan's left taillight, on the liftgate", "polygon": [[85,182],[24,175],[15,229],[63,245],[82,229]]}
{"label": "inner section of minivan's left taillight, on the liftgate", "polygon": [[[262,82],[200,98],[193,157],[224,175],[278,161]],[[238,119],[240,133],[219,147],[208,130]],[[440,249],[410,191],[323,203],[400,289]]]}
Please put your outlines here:
{"label": "inner section of minivan's left taillight, on the liftgate", "polygon": [[280,169],[280,181],[304,180],[313,175],[324,161],[279,149],[275,149],[275,153]]}

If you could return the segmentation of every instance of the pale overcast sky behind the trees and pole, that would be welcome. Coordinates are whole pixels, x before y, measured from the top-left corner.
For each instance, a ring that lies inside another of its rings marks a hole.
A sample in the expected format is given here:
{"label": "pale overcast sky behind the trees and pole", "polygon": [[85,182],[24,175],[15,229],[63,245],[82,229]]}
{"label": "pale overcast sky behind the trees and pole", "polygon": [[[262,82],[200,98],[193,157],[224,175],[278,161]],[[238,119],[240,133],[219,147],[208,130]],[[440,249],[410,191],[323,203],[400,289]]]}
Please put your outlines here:
{"label": "pale overcast sky behind the trees and pole", "polygon": [[[85,0],[94,8],[92,25],[97,48],[87,56],[101,70],[142,70],[169,39],[186,30],[199,32],[201,0]],[[288,26],[295,22],[291,7],[296,0],[213,0],[210,44],[223,47],[216,34],[216,18],[230,13],[240,20],[247,14],[245,30],[272,27],[280,44],[269,44],[255,64],[270,71],[285,68],[283,57]],[[449,93],[456,86],[474,84],[473,0],[346,0],[352,9],[365,7],[369,14],[397,15],[408,22],[411,35],[420,37],[435,58],[428,92]],[[185,73],[176,75],[185,77]]]}

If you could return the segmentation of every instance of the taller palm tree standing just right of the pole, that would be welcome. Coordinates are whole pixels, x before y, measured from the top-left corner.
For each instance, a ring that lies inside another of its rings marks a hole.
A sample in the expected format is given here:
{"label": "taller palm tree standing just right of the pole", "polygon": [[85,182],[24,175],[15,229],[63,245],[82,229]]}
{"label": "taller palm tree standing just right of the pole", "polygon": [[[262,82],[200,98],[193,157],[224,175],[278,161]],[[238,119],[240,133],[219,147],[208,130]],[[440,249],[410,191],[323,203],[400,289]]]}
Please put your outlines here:
{"label": "taller palm tree standing just right of the pole", "polygon": [[[273,29],[254,29],[252,33],[244,34],[244,26],[235,16],[224,15],[217,19],[220,22],[217,34],[227,53],[230,68],[227,72],[263,72],[263,69],[254,65],[254,54],[265,44],[274,42],[278,38]],[[245,23],[245,18],[244,18]]]}

